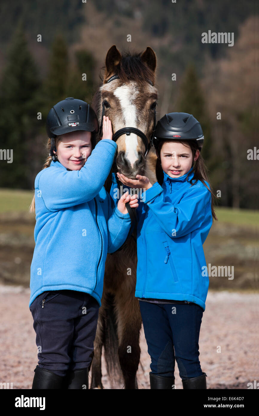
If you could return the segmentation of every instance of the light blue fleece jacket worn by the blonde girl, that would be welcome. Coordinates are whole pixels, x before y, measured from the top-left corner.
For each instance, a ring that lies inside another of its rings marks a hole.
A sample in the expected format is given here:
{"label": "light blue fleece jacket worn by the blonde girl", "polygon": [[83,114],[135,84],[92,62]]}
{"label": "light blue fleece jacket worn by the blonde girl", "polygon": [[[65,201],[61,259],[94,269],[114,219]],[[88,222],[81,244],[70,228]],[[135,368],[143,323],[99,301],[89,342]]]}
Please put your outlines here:
{"label": "light blue fleece jacket worn by the blonde girl", "polygon": [[107,253],[121,247],[131,227],[104,188],[116,149],[104,139],[80,170],[52,161],[37,174],[29,307],[42,292],[67,289],[89,293],[101,306]]}

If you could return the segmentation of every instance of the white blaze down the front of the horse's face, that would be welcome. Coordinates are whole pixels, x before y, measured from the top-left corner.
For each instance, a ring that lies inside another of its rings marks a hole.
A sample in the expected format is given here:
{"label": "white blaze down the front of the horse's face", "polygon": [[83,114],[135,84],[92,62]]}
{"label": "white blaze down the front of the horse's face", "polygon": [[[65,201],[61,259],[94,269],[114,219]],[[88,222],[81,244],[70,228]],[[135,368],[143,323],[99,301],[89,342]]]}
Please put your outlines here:
{"label": "white blaze down the front of the horse's face", "polygon": [[[128,85],[121,85],[113,91],[113,94],[120,100],[121,111],[125,120],[125,125],[121,126],[120,129],[123,127],[137,128],[136,106],[133,104],[138,95],[137,84],[132,82]],[[138,136],[131,133],[125,137],[125,157],[130,161],[133,168],[134,163],[138,160]]]}

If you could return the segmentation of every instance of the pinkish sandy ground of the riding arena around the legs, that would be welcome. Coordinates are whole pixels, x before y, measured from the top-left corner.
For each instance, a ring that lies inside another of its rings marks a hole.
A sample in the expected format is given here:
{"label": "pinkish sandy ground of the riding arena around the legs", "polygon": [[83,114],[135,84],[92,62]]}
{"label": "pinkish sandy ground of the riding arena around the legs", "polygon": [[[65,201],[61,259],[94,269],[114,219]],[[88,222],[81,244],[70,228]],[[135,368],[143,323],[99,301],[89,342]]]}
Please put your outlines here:
{"label": "pinkish sandy ground of the riding arena around the legs", "polygon": [[[13,383],[13,389],[31,389],[38,361],[29,298],[29,289],[0,286],[0,382]],[[259,382],[259,294],[209,290],[199,345],[208,389],[247,389],[248,383]],[[150,388],[149,371],[150,357],[142,327],[139,389]],[[104,359],[102,374],[104,388],[111,389]],[[177,364],[175,386],[182,389]],[[113,388],[123,386],[115,384]]]}

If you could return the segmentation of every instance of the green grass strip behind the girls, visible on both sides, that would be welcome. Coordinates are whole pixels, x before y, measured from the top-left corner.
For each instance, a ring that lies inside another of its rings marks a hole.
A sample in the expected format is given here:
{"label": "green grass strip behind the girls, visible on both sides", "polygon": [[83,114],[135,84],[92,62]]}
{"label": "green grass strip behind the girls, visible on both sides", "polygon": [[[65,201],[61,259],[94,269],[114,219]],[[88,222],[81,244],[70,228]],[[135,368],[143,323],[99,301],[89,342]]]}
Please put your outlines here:
{"label": "green grass strip behind the girls, visible on both sides", "polygon": [[[33,191],[0,188],[0,213],[28,212],[33,194]],[[259,210],[216,207],[215,212],[221,223],[259,225]]]}

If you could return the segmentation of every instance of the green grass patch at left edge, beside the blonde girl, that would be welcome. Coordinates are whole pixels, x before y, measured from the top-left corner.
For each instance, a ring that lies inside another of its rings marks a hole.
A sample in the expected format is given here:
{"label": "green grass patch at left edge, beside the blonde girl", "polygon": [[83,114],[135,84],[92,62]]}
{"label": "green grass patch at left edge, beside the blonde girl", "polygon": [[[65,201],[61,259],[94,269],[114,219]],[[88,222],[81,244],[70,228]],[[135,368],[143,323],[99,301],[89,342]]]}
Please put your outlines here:
{"label": "green grass patch at left edge, beside the blonde girl", "polygon": [[34,192],[0,188],[0,213],[29,212]]}

